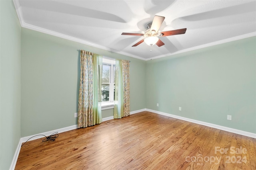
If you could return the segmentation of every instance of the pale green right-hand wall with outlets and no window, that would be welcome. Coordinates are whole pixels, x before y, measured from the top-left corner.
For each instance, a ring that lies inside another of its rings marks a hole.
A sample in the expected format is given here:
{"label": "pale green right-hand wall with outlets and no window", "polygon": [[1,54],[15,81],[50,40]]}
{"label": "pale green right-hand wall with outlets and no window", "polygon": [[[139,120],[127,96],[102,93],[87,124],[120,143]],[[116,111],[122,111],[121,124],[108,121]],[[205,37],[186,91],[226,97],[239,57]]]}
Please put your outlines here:
{"label": "pale green right-hand wall with outlets and no window", "polygon": [[146,108],[256,133],[255,47],[250,37],[147,61]]}

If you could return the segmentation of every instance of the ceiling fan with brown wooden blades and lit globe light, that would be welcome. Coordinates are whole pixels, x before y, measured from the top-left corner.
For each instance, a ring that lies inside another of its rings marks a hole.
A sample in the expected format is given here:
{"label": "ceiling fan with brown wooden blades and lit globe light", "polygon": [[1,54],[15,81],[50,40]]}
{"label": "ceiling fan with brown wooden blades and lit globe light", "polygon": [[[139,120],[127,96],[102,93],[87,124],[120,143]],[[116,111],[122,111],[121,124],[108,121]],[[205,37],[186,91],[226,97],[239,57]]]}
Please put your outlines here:
{"label": "ceiling fan with brown wooden blades and lit globe light", "polygon": [[165,37],[170,35],[178,35],[178,34],[184,34],[186,33],[186,28],[183,29],[175,29],[172,31],[163,31],[158,32],[158,29],[162,25],[164,21],[163,16],[154,16],[154,19],[152,23],[148,23],[147,30],[145,33],[122,33],[121,35],[136,35],[136,36],[144,36],[146,38],[140,40],[138,43],[134,44],[132,47],[136,47],[137,45],[145,42],[147,45],[157,45],[158,47],[161,47],[164,45],[163,41],[161,41],[158,37]]}

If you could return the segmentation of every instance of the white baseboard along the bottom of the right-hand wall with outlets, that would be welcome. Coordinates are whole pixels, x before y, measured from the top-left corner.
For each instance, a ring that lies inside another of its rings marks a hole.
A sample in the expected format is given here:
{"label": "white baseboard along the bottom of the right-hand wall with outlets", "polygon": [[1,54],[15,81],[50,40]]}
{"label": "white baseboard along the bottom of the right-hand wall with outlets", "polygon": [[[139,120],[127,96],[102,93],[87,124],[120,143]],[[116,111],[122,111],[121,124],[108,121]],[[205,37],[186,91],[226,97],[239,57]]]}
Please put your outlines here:
{"label": "white baseboard along the bottom of the right-hand wall with outlets", "polygon": [[223,130],[223,131],[228,131],[228,132],[236,133],[236,134],[239,134],[239,135],[244,135],[244,136],[256,138],[256,133],[250,133],[250,132],[241,131],[241,130],[238,130],[238,129],[233,129],[233,128],[230,128],[230,127],[224,127],[224,126],[215,125],[215,124],[212,124],[212,123],[207,123],[207,122],[203,122],[203,121],[189,119],[189,118],[186,118],[186,117],[172,115],[172,114],[164,113],[164,112],[161,112],[161,111],[156,111],[156,110],[151,110],[151,109],[146,109],[146,111],[157,113],[159,115],[173,117],[173,118],[176,118],[176,119],[181,119],[181,120],[184,120],[184,121],[189,121],[189,122],[196,123],[196,124],[199,124],[199,125],[213,127],[213,128],[216,128],[216,129],[220,129],[220,130]]}

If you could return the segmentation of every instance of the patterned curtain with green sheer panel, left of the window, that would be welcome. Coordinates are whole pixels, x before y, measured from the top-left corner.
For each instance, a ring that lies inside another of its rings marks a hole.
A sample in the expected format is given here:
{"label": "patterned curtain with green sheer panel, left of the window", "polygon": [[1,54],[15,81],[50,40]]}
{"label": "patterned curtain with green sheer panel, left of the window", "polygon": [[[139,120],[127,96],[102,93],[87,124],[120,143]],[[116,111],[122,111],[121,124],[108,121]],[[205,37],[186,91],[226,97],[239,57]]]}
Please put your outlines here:
{"label": "patterned curtain with green sheer panel, left of the window", "polygon": [[78,128],[102,122],[101,75],[102,57],[81,50],[81,75],[78,95]]}

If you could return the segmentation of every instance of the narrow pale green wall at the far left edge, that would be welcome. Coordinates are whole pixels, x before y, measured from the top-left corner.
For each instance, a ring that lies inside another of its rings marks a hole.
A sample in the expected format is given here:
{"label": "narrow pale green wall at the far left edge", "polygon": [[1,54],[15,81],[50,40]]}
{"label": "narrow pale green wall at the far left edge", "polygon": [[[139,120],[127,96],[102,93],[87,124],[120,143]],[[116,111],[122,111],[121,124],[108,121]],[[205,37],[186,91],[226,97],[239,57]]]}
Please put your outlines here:
{"label": "narrow pale green wall at the far left edge", "polygon": [[12,0],[0,1],[0,169],[8,170],[20,141],[21,27]]}

